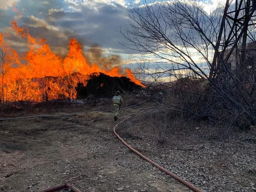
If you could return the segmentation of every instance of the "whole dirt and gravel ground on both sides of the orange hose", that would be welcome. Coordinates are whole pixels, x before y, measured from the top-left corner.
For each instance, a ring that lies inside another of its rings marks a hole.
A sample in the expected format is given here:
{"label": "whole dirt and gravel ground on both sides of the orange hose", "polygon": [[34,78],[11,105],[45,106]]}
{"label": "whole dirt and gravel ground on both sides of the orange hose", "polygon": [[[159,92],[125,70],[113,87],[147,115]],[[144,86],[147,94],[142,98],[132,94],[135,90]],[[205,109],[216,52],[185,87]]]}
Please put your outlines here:
{"label": "whole dirt and gravel ground on both sides of the orange hose", "polygon": [[[205,122],[175,120],[159,143],[157,128],[138,113],[145,105],[122,110],[117,121],[135,114],[116,128],[128,144],[204,191],[256,191],[256,131],[224,136]],[[76,111],[87,109],[65,112]],[[40,114],[48,113],[2,117]],[[0,121],[0,191],[36,192],[64,183],[83,192],[191,191],[125,147],[113,134],[117,122],[113,112]]]}

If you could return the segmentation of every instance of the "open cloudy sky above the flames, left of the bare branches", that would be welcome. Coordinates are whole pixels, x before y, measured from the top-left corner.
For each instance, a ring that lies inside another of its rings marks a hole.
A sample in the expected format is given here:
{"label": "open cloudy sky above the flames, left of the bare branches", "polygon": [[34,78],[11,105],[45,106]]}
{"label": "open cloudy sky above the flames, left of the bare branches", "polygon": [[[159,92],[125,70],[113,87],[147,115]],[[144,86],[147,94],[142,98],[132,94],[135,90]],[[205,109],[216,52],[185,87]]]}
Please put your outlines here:
{"label": "open cloudy sky above the flames, left of the bare branches", "polygon": [[[140,0],[133,3],[140,5]],[[127,7],[128,0],[0,0],[0,32],[8,33],[10,22],[17,20],[31,35],[46,38],[59,54],[67,53],[74,37],[84,50],[102,47],[105,56],[120,55],[123,63],[129,63],[134,54],[119,43],[125,40],[118,32],[121,26],[127,27]],[[12,36],[8,42],[15,49],[26,50],[25,40]]]}

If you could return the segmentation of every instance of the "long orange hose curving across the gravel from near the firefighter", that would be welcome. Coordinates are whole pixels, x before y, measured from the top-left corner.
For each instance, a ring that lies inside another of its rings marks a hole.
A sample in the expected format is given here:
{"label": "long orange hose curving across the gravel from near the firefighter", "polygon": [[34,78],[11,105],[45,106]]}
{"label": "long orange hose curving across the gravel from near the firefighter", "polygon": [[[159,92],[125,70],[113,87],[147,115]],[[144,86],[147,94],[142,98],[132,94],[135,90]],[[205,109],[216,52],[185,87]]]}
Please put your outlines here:
{"label": "long orange hose curving across the gravel from near the firefighter", "polygon": [[170,175],[171,177],[175,178],[176,180],[178,180],[180,183],[183,183],[184,185],[186,185],[187,187],[189,187],[190,189],[192,189],[195,192],[202,192],[201,189],[198,189],[197,187],[195,187],[194,185],[192,185],[191,183],[187,182],[186,180],[182,179],[181,177],[175,175],[172,172],[169,172],[167,169],[164,169],[162,166],[158,165],[157,163],[155,163],[154,161],[148,159],[148,157],[145,157],[143,154],[141,154],[139,151],[135,150],[134,148],[132,148],[130,145],[128,145],[115,131],[117,125],[121,124],[122,122],[124,122],[125,120],[131,118],[132,116],[122,120],[121,122],[119,122],[118,124],[116,124],[116,126],[114,127],[113,131],[114,134],[116,135],[116,137],[125,145],[127,146],[129,149],[131,149],[131,151],[134,151],[134,153],[136,153],[137,155],[139,155],[141,158],[143,158],[144,160],[148,161],[149,163],[153,164],[154,166],[156,166],[158,169],[162,170],[163,172],[165,172],[167,175]]}

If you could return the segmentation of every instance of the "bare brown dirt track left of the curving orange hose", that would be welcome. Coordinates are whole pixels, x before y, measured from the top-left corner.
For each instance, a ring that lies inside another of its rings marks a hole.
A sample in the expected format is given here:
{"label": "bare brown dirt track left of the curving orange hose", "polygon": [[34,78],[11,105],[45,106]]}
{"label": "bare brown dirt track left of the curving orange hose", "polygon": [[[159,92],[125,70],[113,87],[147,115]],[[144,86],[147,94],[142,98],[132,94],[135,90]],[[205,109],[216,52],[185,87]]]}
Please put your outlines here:
{"label": "bare brown dirt track left of the curving orange hose", "polygon": [[186,190],[122,145],[114,125],[111,113],[0,122],[0,190]]}

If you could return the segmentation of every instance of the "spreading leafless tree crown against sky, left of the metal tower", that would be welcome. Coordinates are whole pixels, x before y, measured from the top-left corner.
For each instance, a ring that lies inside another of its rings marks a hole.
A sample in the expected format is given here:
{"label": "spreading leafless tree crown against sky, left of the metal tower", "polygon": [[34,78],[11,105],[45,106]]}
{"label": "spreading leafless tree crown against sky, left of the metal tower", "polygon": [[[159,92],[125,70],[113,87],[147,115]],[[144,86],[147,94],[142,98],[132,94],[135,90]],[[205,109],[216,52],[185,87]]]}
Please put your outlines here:
{"label": "spreading leafless tree crown against sky, left of the metal tower", "polygon": [[142,7],[128,9],[131,29],[123,35],[130,44],[125,46],[154,55],[154,61],[176,65],[177,70],[191,70],[198,77],[207,77],[195,61],[200,55],[212,68],[212,50],[221,23],[220,9],[210,14],[198,2],[178,0],[159,3],[144,1]]}

